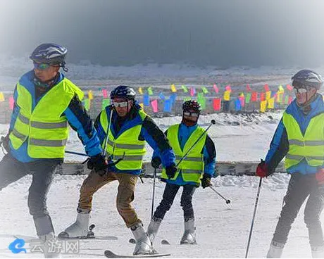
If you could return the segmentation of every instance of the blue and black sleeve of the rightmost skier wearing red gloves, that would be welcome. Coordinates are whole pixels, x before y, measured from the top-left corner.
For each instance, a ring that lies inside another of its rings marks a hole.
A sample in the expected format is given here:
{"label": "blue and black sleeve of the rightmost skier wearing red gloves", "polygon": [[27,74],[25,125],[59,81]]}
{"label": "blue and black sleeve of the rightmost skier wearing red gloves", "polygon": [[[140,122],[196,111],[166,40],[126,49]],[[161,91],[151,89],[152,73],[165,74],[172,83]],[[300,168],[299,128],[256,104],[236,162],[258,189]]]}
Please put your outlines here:
{"label": "blue and black sleeve of the rightmost skier wearing red gloves", "polygon": [[289,142],[287,137],[287,130],[282,122],[279,122],[277,130],[273,135],[273,140],[270,144],[270,149],[268,150],[266,156],[266,164],[268,165],[269,172],[273,172],[277,168],[278,164],[286,156],[289,150]]}

